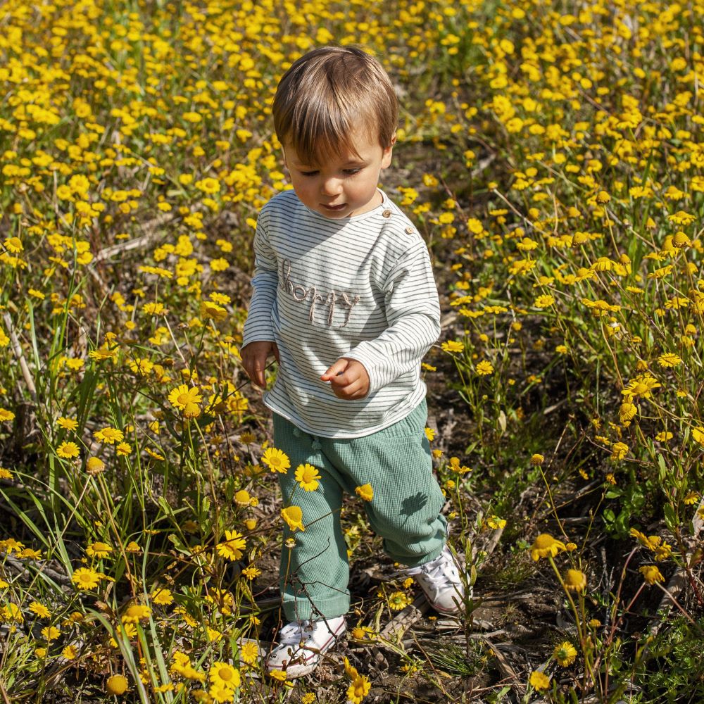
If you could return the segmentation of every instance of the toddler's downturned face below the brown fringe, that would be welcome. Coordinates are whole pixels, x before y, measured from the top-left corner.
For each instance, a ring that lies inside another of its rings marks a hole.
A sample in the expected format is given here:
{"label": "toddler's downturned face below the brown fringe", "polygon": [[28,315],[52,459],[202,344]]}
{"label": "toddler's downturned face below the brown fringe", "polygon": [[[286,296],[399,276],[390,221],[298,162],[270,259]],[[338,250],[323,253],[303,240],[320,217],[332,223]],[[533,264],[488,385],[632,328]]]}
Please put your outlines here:
{"label": "toddler's downturned face below the brown fringe", "polygon": [[365,132],[353,134],[359,156],[332,156],[322,164],[303,163],[290,143],[284,144],[284,164],[296,196],[326,218],[349,218],[373,210],[382,202],[379,173],[391,163],[393,144],[386,149]]}

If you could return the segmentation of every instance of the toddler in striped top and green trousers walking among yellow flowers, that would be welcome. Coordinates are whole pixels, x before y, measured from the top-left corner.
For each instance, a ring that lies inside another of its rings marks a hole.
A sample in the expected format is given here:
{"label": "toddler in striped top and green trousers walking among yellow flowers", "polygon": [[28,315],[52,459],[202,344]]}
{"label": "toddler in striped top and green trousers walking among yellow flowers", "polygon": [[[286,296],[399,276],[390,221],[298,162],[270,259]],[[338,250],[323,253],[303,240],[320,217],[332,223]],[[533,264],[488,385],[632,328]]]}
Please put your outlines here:
{"label": "toddler in striped top and green trousers walking among yellow flowers", "polygon": [[259,386],[267,359],[279,363],[264,402],[291,461],[284,506],[303,513],[284,534],[290,623],[268,658],[291,678],[313,672],[346,628],[344,492],[371,486],[358,493],[373,492],[372,529],[436,610],[458,612],[463,586],[424,432],[420,360],[440,333],[437,289],[420,234],[377,188],[396,142],[394,89],[375,58],[327,46],[291,65],[272,113],[293,190],[258,218],[241,356]]}

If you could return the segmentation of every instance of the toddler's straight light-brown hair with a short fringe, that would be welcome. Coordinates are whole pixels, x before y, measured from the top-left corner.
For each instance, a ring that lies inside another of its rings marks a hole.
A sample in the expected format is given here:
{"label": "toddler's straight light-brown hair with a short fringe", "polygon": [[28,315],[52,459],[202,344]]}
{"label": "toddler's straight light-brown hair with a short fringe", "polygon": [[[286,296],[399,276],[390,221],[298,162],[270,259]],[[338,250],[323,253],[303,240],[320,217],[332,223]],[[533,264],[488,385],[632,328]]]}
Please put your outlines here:
{"label": "toddler's straight light-brown hair with a short fringe", "polygon": [[394,142],[398,100],[382,65],[356,46],[322,46],[284,73],[272,104],[279,142],[304,162],[351,153],[362,127],[383,149]]}

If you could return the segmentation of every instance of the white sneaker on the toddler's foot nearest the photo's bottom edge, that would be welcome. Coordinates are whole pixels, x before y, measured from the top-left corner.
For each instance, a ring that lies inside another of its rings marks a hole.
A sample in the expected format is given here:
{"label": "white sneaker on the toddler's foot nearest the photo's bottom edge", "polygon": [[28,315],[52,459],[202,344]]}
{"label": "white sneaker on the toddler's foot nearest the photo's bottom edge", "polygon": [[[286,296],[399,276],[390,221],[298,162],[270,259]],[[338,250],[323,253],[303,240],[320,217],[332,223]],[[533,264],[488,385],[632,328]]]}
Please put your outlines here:
{"label": "white sneaker on the toddler's foot nearest the photo's bottom edge", "polygon": [[289,679],[318,667],[320,656],[346,631],[345,617],[291,621],[279,631],[279,645],[269,654],[268,670],[283,670]]}

